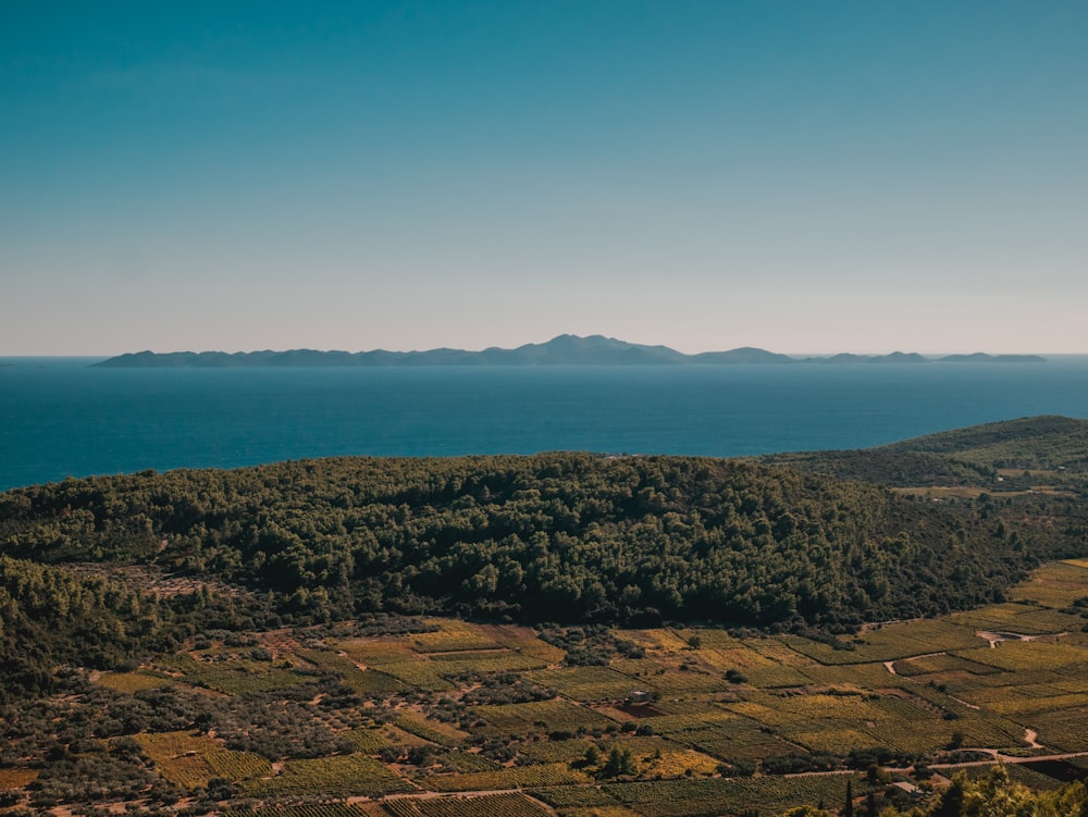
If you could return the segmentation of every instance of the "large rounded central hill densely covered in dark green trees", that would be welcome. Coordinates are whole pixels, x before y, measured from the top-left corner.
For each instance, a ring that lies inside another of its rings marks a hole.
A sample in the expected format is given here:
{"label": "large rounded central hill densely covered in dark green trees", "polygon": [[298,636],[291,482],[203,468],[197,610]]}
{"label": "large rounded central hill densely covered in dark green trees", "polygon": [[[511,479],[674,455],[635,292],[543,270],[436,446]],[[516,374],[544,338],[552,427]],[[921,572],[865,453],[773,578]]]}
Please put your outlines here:
{"label": "large rounded central hill densely covered in dark green trees", "polygon": [[370,610],[842,630],[968,607],[1062,545],[972,507],[754,463],[584,454],[326,459],[0,494],[4,554]]}

